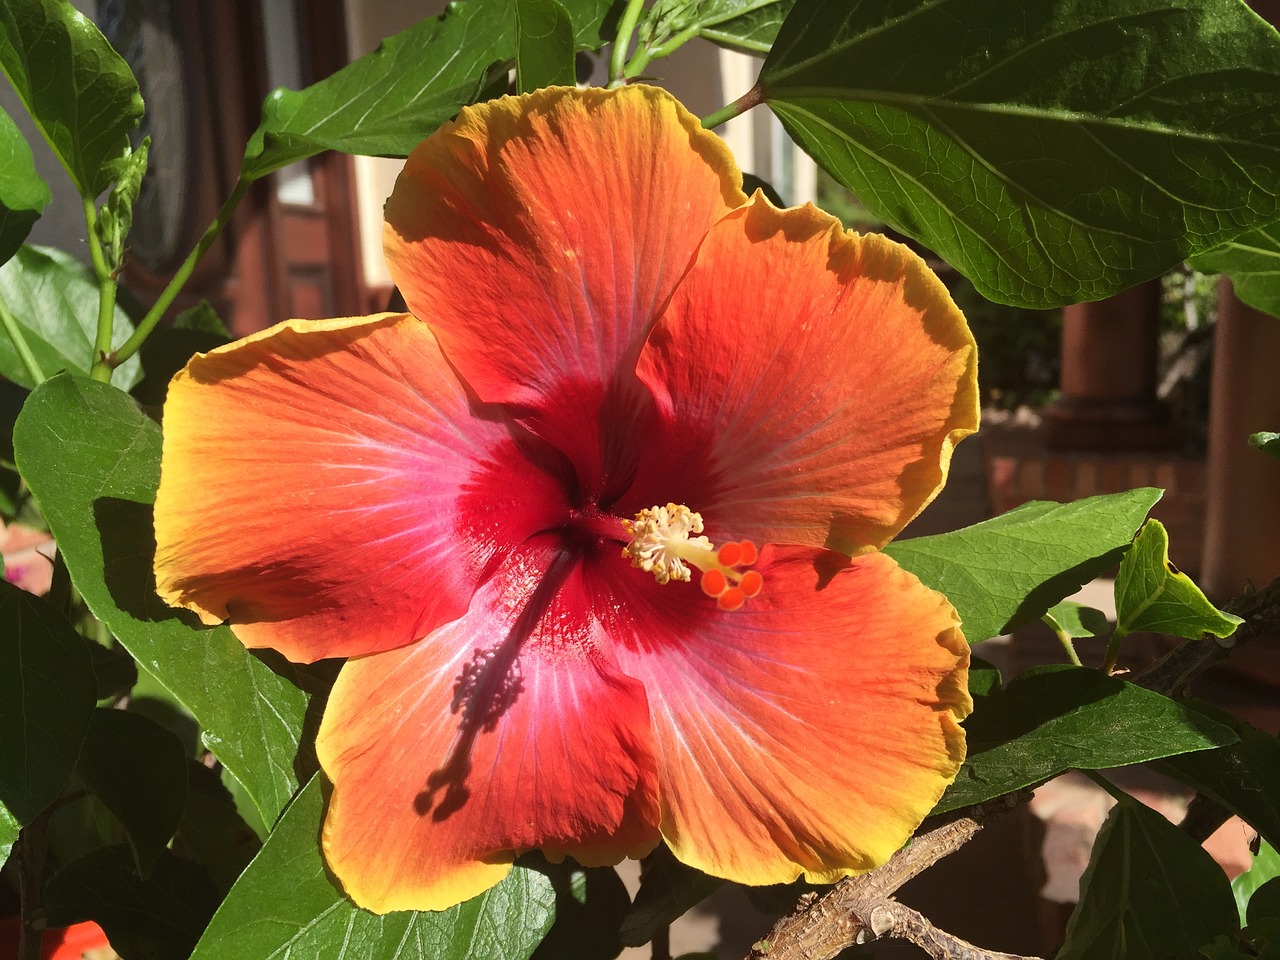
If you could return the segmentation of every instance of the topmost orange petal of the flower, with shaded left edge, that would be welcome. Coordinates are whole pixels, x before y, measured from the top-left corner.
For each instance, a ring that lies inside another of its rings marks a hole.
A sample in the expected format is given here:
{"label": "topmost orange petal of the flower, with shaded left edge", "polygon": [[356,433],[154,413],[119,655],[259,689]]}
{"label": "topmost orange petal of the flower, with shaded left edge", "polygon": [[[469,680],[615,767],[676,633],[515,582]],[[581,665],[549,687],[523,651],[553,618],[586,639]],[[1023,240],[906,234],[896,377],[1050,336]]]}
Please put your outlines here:
{"label": "topmost orange petal of the flower, with shaded left edge", "polygon": [[723,142],[658,88],[503,97],[410,156],[387,259],[462,378],[524,408],[590,486],[626,452],[602,449],[596,411],[634,384],[640,343],[740,187]]}

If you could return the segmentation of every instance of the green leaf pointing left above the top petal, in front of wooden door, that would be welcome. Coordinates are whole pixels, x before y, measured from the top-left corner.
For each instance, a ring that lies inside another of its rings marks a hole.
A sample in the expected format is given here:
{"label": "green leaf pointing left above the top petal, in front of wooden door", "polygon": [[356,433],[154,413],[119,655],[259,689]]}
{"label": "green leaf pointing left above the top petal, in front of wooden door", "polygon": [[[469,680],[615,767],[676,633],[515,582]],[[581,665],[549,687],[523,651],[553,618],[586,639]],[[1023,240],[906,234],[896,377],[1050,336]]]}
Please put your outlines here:
{"label": "green leaf pointing left above the top petal, in front of wooden door", "polygon": [[[244,148],[241,177],[256,180],[323,150],[408,156],[472,102],[516,56],[517,0],[466,0],[388,37],[372,54],[302,91],[276,90]],[[611,0],[568,8],[577,49],[600,46]]]}

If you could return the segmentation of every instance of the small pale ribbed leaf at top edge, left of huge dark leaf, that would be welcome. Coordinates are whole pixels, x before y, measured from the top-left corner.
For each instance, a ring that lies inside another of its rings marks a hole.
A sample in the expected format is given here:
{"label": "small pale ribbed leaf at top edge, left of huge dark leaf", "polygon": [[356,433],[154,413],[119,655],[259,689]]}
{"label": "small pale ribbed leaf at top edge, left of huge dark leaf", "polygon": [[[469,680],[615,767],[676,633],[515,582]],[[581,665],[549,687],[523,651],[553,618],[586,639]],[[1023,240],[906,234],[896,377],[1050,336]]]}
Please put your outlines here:
{"label": "small pale ribbed leaf at top edge, left of huge dark leaf", "polygon": [[705,37],[731,50],[767,54],[794,5],[795,0],[659,0],[640,23],[640,51]]}

